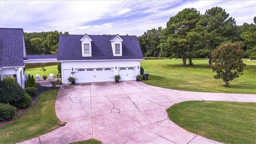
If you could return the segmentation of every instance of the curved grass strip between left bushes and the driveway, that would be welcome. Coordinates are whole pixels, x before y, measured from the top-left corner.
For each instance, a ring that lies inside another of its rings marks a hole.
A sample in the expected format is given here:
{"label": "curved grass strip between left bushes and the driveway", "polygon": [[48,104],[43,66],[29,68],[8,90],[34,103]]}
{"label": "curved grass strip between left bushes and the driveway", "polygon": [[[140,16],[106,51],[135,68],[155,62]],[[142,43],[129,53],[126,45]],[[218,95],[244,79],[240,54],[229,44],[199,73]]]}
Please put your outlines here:
{"label": "curved grass strip between left bushes and the driveway", "polygon": [[42,93],[34,108],[13,123],[0,127],[0,143],[16,143],[57,129],[60,123],[54,109],[57,93],[58,90]]}

